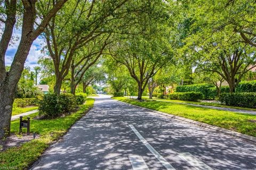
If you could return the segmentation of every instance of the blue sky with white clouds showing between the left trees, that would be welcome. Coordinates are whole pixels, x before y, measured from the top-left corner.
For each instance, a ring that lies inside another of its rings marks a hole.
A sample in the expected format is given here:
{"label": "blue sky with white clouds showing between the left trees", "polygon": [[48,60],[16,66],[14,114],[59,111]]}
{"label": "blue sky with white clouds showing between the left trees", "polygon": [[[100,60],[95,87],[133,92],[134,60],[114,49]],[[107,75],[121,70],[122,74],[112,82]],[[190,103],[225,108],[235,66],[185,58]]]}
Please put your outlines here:
{"label": "blue sky with white clouds showing between the left trees", "polygon": [[[13,60],[13,56],[17,51],[19,42],[21,37],[21,30],[15,29],[13,30],[13,38],[12,43],[9,44],[5,54],[5,66],[10,66]],[[45,46],[45,42],[42,37],[37,37],[37,39],[33,42],[27,60],[25,62],[25,66],[30,67],[30,70],[33,71],[34,67],[38,66],[38,59],[40,56],[44,56],[45,54],[42,52],[42,48]]]}

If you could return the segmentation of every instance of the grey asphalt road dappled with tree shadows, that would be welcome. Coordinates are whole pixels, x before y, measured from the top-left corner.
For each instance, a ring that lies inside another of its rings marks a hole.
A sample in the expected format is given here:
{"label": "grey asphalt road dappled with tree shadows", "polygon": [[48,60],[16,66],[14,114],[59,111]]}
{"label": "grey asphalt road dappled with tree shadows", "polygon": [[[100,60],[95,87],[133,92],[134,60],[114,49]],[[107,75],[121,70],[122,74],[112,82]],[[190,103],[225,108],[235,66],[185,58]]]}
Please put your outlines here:
{"label": "grey asphalt road dappled with tree shadows", "polygon": [[32,169],[256,169],[256,144],[101,96]]}

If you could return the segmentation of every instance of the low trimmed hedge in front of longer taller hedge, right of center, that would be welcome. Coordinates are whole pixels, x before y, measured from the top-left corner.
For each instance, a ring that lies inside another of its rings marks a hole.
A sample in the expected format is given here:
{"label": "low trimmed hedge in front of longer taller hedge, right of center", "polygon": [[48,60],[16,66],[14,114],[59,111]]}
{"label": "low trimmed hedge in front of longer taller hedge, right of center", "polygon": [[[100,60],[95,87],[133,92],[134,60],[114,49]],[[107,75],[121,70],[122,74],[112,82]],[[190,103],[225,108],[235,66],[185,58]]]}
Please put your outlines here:
{"label": "low trimmed hedge in front of longer taller hedge, right of center", "polygon": [[198,101],[203,98],[202,93],[198,92],[184,92],[184,93],[171,93],[169,99],[171,100],[185,100],[185,101]]}

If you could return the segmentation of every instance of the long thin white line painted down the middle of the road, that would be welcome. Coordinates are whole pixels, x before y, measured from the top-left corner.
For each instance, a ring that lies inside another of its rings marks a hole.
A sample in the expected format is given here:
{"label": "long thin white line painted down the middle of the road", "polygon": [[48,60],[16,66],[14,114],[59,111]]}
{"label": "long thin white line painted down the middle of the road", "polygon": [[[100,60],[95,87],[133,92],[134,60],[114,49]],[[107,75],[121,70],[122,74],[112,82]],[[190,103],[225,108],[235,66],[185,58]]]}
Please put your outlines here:
{"label": "long thin white line painted down the middle of the road", "polygon": [[135,129],[133,125],[129,125],[132,131],[139,137],[140,141],[148,148],[148,150],[153,153],[153,155],[162,163],[162,165],[168,170],[175,170],[175,168],[169,164],[164,157],[160,155],[145,139],[141,134]]}

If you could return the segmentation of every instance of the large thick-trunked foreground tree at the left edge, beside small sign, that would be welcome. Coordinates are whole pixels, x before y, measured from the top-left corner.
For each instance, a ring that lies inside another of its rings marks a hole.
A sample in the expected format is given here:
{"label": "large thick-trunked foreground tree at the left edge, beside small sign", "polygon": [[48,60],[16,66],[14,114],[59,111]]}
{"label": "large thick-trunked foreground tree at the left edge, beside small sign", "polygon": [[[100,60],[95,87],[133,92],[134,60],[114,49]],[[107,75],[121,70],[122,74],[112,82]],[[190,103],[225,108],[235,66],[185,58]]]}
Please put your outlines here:
{"label": "large thick-trunked foreground tree at the left edge, beside small sign", "polygon": [[[44,18],[38,16],[39,2],[34,0],[4,1],[1,3],[0,22],[4,24],[4,30],[0,41],[0,138],[10,133],[10,122],[14,92],[19,82],[30,47],[34,40],[44,31],[52,17],[61,9],[67,0],[48,1],[44,10]],[[53,2],[53,3],[52,3]],[[19,3],[19,4],[17,4]],[[17,13],[21,16],[17,16]],[[11,68],[5,69],[5,54],[10,44],[13,28],[17,18],[21,19],[21,39],[15,52]],[[34,26],[37,27],[34,27]]]}

